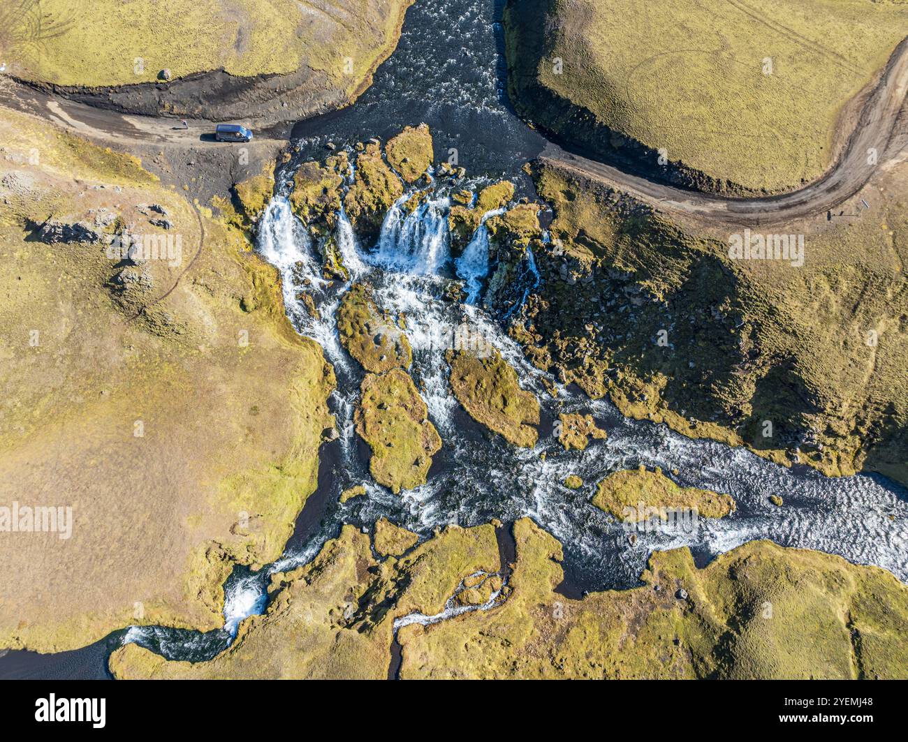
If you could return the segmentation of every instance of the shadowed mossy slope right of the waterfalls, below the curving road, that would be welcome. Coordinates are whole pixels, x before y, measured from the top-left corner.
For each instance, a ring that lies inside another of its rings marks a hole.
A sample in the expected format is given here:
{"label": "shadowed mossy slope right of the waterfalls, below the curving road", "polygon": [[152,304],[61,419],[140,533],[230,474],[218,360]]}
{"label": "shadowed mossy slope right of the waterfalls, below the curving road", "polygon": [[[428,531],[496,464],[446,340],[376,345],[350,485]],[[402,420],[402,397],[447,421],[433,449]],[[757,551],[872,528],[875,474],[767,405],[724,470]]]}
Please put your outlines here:
{"label": "shadowed mossy slope right of the waterfalls, below the curving road", "polygon": [[905,481],[908,171],[854,198],[860,220],[779,229],[804,233],[801,268],[731,260],[727,233],[557,168],[536,182],[559,249],[536,251],[544,280],[512,328],[533,363],[692,437]]}

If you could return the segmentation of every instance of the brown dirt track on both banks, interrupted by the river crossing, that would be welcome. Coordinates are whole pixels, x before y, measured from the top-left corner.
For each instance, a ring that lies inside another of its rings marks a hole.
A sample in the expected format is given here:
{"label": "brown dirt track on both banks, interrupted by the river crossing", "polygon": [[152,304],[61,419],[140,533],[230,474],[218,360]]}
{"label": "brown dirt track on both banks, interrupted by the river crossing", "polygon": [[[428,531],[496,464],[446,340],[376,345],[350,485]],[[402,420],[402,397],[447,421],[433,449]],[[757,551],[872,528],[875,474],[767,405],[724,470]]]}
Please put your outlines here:
{"label": "brown dirt track on both banks, interrupted by the river crossing", "polygon": [[[575,171],[625,190],[660,210],[682,212],[716,224],[762,225],[811,217],[834,209],[861,190],[873,173],[893,161],[908,159],[908,126],[896,132],[896,122],[903,112],[908,95],[908,38],[899,44],[887,63],[876,88],[867,96],[864,107],[847,137],[833,167],[818,181],[801,190],[776,196],[734,199],[714,194],[683,190],[621,171],[600,161],[589,160],[549,143],[540,160]],[[95,140],[119,144],[129,151],[173,151],[179,156],[207,152],[213,158],[212,177],[223,165],[220,160],[232,157],[232,145],[214,142],[213,124],[193,120],[183,129],[179,121],[149,116],[128,115],[83,103],[75,103],[48,93],[0,81],[0,105],[29,112],[53,121]],[[903,114],[908,122],[908,113]],[[256,137],[249,145],[255,161],[273,157],[286,142],[281,139]],[[173,159],[173,158],[172,158]],[[190,163],[193,164],[193,163]],[[198,163],[195,163],[197,166]],[[208,170],[206,168],[206,170]],[[228,184],[229,185],[229,184]]]}

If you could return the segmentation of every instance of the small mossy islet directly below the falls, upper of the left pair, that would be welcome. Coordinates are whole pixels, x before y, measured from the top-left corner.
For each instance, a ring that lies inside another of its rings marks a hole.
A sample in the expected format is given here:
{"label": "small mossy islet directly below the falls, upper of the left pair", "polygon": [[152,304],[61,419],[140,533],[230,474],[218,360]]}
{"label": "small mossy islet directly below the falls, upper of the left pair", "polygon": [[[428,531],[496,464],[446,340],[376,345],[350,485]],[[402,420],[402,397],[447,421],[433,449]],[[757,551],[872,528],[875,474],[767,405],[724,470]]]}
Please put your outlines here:
{"label": "small mossy islet directly below the falls, upper of the left pair", "polygon": [[381,374],[391,368],[410,367],[410,341],[390,317],[381,313],[368,284],[350,287],[341,299],[337,317],[343,347],[367,371]]}

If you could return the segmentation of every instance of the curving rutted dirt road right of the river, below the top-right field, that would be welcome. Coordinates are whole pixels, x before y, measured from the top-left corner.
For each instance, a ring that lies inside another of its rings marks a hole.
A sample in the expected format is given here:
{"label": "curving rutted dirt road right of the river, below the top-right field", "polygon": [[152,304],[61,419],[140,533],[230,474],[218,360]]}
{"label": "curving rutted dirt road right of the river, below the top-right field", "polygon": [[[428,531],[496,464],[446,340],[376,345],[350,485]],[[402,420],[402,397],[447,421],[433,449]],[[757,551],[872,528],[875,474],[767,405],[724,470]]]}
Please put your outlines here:
{"label": "curving rutted dirt road right of the river, below the top-right field", "polygon": [[[630,175],[603,162],[589,160],[549,142],[539,155],[545,163],[575,171],[660,210],[676,210],[723,224],[772,224],[797,220],[833,209],[864,188],[883,164],[895,122],[908,96],[908,38],[895,47],[889,62],[858,117],[839,160],[818,181],[777,196],[734,199],[663,185]],[[871,152],[876,157],[871,157]]]}

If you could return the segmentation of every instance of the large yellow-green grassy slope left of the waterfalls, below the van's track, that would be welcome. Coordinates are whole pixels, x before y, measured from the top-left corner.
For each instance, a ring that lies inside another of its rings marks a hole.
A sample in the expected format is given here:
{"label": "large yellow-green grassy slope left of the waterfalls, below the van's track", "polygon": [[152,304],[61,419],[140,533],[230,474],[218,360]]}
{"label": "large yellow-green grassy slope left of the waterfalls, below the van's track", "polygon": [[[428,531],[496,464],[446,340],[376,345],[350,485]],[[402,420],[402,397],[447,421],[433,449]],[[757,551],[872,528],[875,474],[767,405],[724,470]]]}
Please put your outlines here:
{"label": "large yellow-green grassy slope left of the waterfalls, below the van's track", "polygon": [[[0,503],[73,509],[69,539],[0,539],[18,575],[0,588],[0,647],[220,627],[232,562],[277,558],[315,488],[331,368],[240,230],[30,116],[4,110],[0,139]],[[152,203],[182,260],[124,268],[142,280],[122,291],[104,242],[26,239],[103,210],[108,236],[162,232]]]}

